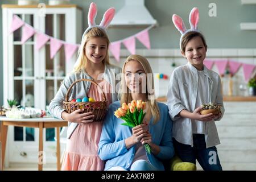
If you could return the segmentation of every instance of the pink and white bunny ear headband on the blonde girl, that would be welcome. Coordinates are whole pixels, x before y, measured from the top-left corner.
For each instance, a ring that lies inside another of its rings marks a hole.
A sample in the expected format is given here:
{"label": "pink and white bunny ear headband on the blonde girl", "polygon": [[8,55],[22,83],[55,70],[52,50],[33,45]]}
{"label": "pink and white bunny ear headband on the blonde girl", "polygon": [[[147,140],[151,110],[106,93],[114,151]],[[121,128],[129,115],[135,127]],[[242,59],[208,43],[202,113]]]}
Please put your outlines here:
{"label": "pink and white bunny ear headband on the blonde girl", "polygon": [[84,31],[84,34],[82,35],[82,38],[84,38],[84,35],[93,27],[101,28],[102,30],[106,31],[106,28],[108,28],[110,22],[114,18],[115,9],[112,7],[108,10],[106,10],[105,14],[103,15],[103,18],[101,20],[100,25],[96,25],[95,18],[97,15],[97,6],[95,3],[90,3],[89,13],[88,13],[88,28]]}

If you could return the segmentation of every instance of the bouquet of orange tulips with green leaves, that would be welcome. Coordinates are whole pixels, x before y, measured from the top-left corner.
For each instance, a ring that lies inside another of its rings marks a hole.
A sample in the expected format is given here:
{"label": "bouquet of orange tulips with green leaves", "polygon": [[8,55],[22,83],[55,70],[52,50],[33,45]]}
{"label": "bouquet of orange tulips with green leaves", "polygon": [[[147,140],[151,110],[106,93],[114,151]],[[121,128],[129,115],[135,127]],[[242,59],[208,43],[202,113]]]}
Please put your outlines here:
{"label": "bouquet of orange tulips with green leaves", "polygon": [[[143,110],[146,109],[146,102],[141,100],[131,101],[128,105],[126,103],[122,104],[122,107],[119,107],[115,112],[114,115],[117,118],[123,119],[121,125],[135,127],[142,124],[143,118],[146,113]],[[144,144],[144,147],[148,154],[151,154],[150,145],[148,143]]]}

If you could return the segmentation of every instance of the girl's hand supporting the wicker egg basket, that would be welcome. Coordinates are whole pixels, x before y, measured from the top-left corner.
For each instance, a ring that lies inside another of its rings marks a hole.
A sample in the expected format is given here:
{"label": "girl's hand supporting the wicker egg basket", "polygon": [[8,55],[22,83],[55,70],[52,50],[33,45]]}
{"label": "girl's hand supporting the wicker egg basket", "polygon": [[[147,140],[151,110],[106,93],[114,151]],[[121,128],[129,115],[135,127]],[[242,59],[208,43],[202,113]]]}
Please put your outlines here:
{"label": "girl's hand supporting the wicker egg basket", "polygon": [[61,113],[61,117],[69,122],[79,123],[80,125],[85,125],[86,123],[93,122],[94,115],[92,112],[81,113],[84,109],[77,109],[73,113],[68,114],[65,111]]}

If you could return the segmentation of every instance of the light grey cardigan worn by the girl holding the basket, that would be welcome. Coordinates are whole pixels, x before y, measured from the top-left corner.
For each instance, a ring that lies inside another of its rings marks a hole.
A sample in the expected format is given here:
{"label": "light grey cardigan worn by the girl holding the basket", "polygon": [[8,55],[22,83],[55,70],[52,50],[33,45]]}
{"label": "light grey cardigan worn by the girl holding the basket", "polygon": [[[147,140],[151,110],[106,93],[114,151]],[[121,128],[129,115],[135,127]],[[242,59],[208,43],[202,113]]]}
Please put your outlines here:
{"label": "light grey cardigan worn by the girl holding the basket", "polygon": [[[118,93],[118,80],[115,79],[118,73],[121,73],[121,68],[116,67],[115,65],[105,65],[104,73],[102,77],[104,80],[108,81],[112,86],[112,102],[117,101],[117,93]],[[86,78],[93,80],[85,71],[80,73],[71,73],[70,75],[66,76],[63,82],[60,85],[60,89],[58,90],[56,96],[53,98],[51,103],[49,104],[49,113],[53,115],[53,117],[61,118],[61,113],[64,111],[63,109],[63,101],[65,100],[65,94],[68,91],[69,86],[81,78]],[[91,82],[89,81],[80,81],[77,82],[71,89],[69,93],[69,100],[71,98],[82,98],[87,95],[89,92]],[[116,86],[117,85],[117,86]],[[70,138],[73,131],[75,131],[78,123],[68,122],[68,131],[67,131],[67,138]]]}

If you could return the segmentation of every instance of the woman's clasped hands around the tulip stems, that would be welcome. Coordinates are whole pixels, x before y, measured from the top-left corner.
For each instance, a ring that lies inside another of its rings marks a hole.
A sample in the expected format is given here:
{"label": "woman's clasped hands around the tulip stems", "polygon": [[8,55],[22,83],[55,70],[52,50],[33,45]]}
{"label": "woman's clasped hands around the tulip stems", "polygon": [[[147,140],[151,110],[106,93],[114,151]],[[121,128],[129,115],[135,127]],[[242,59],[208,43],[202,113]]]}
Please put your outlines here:
{"label": "woman's clasped hands around the tulip stems", "polygon": [[134,144],[140,142],[143,137],[147,137],[148,135],[148,127],[145,123],[135,126],[131,130],[133,131],[131,138],[133,139]]}

